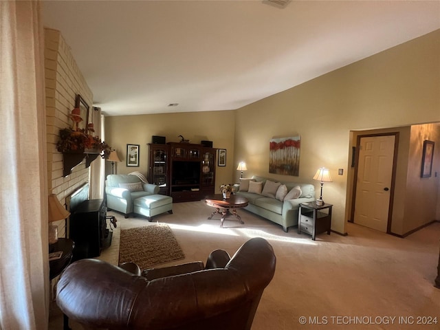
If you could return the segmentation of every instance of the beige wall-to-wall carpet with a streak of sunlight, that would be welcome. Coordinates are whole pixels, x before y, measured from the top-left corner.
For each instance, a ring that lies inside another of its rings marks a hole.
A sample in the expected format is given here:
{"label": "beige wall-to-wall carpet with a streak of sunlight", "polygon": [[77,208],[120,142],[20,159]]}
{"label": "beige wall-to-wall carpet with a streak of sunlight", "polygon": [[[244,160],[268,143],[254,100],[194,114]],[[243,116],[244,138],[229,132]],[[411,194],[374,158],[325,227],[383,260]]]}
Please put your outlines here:
{"label": "beige wall-to-wall carpet with a streak of sunlight", "polygon": [[[219,228],[219,219],[207,219],[212,210],[203,201],[174,203],[173,214],[153,218],[170,226],[186,256],[166,265],[204,262],[219,248],[232,255],[250,237],[267,239],[276,254],[276,272],[261,297],[252,330],[440,329],[440,289],[434,287],[440,223],[405,239],[348,223],[349,236],[322,233],[311,241],[296,228],[283,232],[280,225],[245,210],[237,210],[243,225],[230,218]],[[140,217],[109,215],[118,218],[122,230],[155,225]],[[107,259],[111,249],[104,250],[102,259],[113,260]],[[357,320],[347,319],[355,316]],[[437,325],[417,325],[421,316],[437,316]],[[301,317],[306,318],[304,325]],[[404,318],[412,324],[404,324]],[[62,321],[62,314],[52,313],[50,330],[62,329]],[[71,327],[82,329],[74,322]]]}

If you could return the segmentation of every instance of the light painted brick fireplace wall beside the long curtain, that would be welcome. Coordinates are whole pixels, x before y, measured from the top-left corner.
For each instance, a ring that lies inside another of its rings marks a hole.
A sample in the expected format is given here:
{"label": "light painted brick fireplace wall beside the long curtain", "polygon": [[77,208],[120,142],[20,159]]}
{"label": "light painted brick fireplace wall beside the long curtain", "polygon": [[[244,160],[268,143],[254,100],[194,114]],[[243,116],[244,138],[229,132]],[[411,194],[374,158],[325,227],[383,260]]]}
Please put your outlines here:
{"label": "light painted brick fireplace wall beside the long curtain", "polygon": [[[89,168],[85,162],[63,177],[63,154],[56,150],[60,129],[72,126],[69,113],[75,106],[76,94],[83,96],[90,108],[93,94],[70,52],[61,33],[45,28],[45,93],[47,122],[47,186],[49,192],[65,204],[69,196],[89,181]],[[65,221],[58,221],[58,236],[65,236]]]}

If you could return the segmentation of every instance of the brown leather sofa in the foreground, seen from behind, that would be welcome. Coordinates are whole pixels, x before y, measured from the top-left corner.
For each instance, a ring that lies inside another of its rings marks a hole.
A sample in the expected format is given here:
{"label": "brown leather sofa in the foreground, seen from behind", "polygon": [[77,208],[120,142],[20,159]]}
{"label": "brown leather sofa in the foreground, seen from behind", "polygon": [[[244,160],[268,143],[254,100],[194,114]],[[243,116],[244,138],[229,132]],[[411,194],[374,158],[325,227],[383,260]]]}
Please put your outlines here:
{"label": "brown leather sofa in the foreground, seen from behind", "polygon": [[61,276],[56,303],[85,329],[250,329],[275,266],[262,238],[244,243],[232,259],[216,250],[205,266],[144,270],[144,276],[83,259]]}

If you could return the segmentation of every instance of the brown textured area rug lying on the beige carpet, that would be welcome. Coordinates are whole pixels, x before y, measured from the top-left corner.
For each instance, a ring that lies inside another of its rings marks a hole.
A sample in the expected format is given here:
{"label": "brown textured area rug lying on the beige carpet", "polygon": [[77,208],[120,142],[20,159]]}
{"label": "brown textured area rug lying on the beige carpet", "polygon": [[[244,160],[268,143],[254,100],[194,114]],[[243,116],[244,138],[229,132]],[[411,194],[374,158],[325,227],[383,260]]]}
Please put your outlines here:
{"label": "brown textured area rug lying on the beige carpet", "polygon": [[144,227],[121,229],[119,263],[137,263],[140,269],[184,259],[177,239],[168,225],[155,223]]}

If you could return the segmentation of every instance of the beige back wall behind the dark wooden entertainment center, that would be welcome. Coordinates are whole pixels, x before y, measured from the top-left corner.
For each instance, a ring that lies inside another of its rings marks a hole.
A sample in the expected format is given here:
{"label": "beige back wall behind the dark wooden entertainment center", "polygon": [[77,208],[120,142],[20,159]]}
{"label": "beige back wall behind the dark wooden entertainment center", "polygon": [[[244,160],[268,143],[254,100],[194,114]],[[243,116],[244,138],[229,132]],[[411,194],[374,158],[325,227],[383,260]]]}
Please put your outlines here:
{"label": "beige back wall behind the dark wooden entertainment center", "polygon": [[[226,166],[216,168],[216,190],[222,183],[231,182],[234,163],[235,111],[166,113],[153,115],[122,115],[105,118],[106,142],[115,148],[122,162],[115,164],[118,174],[138,170],[148,173],[148,143],[153,135],[166,137],[166,142],[179,142],[178,135],[199,144],[213,142],[214,148],[226,149]],[[126,144],[140,145],[140,166],[126,166]],[[109,163],[109,162],[107,162]],[[234,168],[235,166],[235,168]],[[235,170],[236,172],[236,170]],[[107,174],[111,166],[107,165]]]}

